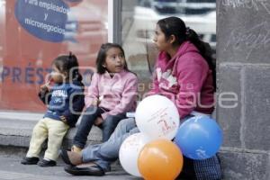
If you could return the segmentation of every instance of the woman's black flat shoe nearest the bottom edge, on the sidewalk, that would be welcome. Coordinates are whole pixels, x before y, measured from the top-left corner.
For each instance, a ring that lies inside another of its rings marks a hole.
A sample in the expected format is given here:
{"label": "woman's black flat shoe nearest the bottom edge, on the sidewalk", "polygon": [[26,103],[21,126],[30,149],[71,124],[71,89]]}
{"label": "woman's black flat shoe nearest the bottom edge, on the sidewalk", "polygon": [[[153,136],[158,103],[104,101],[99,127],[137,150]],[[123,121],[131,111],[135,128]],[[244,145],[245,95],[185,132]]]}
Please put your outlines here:
{"label": "woman's black flat shoe nearest the bottom edge, on the sidewalk", "polygon": [[71,175],[105,175],[103,168],[97,165],[89,167],[65,166],[64,170]]}

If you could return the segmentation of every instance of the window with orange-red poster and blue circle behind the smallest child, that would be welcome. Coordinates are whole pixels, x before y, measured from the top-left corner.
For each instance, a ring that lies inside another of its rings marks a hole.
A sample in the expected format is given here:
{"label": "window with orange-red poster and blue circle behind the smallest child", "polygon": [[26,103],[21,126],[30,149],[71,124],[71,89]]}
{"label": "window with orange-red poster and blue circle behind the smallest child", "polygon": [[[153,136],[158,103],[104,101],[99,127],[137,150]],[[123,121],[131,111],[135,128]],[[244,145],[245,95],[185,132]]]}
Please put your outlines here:
{"label": "window with orange-red poster and blue circle behind the smallest child", "polygon": [[107,0],[0,0],[0,110],[43,112],[37,94],[59,54],[72,51],[81,73],[92,74],[96,53],[107,41],[107,5]]}

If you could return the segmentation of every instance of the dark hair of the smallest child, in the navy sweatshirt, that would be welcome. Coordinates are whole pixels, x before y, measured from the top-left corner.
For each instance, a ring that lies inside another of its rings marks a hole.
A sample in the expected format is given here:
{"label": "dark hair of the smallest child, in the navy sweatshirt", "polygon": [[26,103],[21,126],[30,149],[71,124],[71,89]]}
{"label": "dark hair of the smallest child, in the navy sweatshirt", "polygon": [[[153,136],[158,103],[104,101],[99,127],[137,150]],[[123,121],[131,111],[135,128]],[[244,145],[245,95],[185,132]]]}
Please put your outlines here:
{"label": "dark hair of the smallest child, in the navy sweatshirt", "polygon": [[53,60],[52,64],[54,64],[61,73],[66,73],[67,79],[79,82],[83,80],[83,77],[79,73],[77,58],[72,52],[69,52],[69,55],[58,56],[58,58]]}

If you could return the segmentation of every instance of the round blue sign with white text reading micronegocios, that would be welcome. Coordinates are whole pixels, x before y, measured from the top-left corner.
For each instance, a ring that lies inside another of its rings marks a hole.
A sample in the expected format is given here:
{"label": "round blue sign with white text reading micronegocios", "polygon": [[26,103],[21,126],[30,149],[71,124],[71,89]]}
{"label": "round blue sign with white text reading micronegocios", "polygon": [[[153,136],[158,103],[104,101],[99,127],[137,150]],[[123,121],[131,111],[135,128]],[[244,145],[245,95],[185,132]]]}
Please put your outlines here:
{"label": "round blue sign with white text reading micronegocios", "polygon": [[65,40],[69,7],[62,0],[17,0],[15,16],[31,35],[51,42]]}

